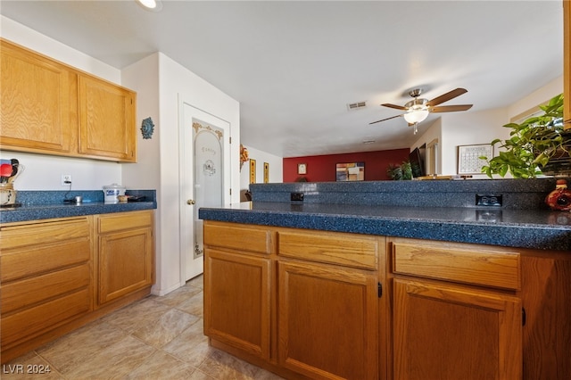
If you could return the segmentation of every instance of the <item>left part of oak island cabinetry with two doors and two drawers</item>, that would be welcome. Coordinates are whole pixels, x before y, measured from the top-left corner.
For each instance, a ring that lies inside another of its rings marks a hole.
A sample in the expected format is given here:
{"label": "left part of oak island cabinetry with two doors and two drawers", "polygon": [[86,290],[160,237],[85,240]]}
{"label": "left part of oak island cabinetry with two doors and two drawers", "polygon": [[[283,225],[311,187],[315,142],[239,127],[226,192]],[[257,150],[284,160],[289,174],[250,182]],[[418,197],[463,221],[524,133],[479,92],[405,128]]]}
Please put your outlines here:
{"label": "left part of oak island cabinetry with two doors and two drawers", "polygon": [[286,378],[377,378],[382,242],[205,221],[205,334]]}

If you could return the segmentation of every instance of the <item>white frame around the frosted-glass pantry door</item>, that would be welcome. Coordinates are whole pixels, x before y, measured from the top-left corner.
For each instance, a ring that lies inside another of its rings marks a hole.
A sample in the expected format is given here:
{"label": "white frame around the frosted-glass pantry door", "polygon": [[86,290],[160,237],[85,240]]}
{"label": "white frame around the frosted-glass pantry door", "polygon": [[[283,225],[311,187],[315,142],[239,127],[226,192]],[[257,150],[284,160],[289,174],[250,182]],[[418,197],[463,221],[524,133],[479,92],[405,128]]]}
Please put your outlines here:
{"label": "white frame around the frosted-glass pantry door", "polygon": [[[232,123],[229,120],[223,119],[211,112],[204,111],[200,107],[195,106],[193,103],[190,103],[182,98],[180,94],[178,94],[178,226],[179,226],[179,247],[178,247],[178,256],[179,256],[179,276],[180,276],[180,285],[183,286],[186,283],[186,247],[190,244],[194,250],[194,235],[190,236],[190,241],[186,236],[187,228],[194,229],[194,222],[190,223],[190,226],[186,223],[186,186],[191,187],[192,197],[194,199],[194,160],[190,165],[191,168],[186,168],[186,157],[187,154],[191,154],[194,156],[194,140],[191,141],[190,149],[189,146],[186,145],[186,129],[185,129],[185,106],[192,107],[197,112],[203,112],[207,115],[210,115],[218,120],[221,120],[225,123],[228,123],[228,134],[224,136],[223,142],[223,151],[226,154],[228,152],[228,157],[225,157],[223,160],[224,163],[224,175],[222,177],[222,183],[224,190],[223,194],[223,203],[228,204],[231,200],[230,189],[232,188],[232,160],[230,154],[232,153],[232,149],[230,146],[230,136],[232,136]],[[192,129],[192,126],[189,126]],[[190,132],[190,136],[192,136],[192,131]],[[227,146],[228,145],[228,146]],[[193,207],[196,207],[193,205]]]}

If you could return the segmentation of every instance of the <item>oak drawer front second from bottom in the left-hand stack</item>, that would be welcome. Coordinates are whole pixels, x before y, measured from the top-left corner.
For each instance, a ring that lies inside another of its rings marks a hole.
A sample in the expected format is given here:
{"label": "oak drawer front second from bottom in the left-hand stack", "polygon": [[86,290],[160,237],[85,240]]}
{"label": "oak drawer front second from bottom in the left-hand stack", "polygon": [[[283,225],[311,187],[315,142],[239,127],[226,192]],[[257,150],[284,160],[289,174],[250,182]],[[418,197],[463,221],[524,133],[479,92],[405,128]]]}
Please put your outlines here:
{"label": "oak drawer front second from bottom in the left-hand stack", "polygon": [[29,307],[59,295],[87,288],[91,283],[88,264],[66,268],[44,276],[0,286],[0,313],[5,316],[14,310]]}

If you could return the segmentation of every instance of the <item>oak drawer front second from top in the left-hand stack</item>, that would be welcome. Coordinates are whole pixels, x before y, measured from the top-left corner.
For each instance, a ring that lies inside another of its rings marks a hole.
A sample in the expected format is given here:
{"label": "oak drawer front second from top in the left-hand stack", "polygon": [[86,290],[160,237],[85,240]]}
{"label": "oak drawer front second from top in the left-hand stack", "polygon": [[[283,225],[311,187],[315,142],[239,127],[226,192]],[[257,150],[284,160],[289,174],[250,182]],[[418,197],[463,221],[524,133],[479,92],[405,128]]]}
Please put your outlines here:
{"label": "oak drawer front second from top in the left-hand stack", "polygon": [[17,252],[2,252],[0,282],[35,276],[90,259],[91,243],[87,237],[44,247],[27,247]]}

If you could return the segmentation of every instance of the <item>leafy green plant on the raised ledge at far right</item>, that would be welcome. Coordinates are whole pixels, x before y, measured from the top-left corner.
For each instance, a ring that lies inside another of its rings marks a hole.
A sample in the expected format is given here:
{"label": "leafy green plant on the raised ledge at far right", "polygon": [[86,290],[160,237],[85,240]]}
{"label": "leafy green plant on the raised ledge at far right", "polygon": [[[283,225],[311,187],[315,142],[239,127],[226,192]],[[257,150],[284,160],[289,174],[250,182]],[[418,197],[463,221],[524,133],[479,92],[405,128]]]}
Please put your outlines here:
{"label": "leafy green plant on the raised ledge at far right", "polygon": [[536,178],[546,174],[571,172],[571,133],[563,129],[563,94],[557,95],[541,105],[544,112],[520,124],[509,123],[508,140],[496,138],[492,145],[501,150],[493,158],[481,157],[487,161],[482,172],[504,177],[508,172],[514,178]]}

